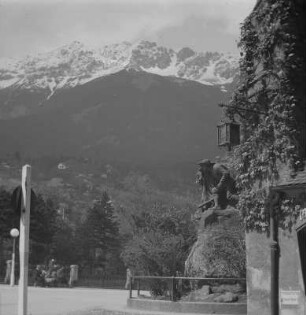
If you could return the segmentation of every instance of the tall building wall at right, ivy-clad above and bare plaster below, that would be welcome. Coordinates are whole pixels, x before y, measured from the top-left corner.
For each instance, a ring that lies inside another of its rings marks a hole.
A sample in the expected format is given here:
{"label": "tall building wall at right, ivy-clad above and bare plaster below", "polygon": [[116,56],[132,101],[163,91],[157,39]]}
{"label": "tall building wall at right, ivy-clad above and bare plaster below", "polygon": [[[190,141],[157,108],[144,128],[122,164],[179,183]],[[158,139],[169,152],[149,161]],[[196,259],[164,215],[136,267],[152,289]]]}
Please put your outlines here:
{"label": "tall building wall at right, ivy-clad above and bare plaster below", "polygon": [[[240,82],[225,115],[241,124],[241,144],[229,152],[228,164],[237,175],[237,207],[248,232],[248,315],[271,311],[270,189],[283,174],[294,178],[305,169],[305,21],[303,0],[258,0],[241,26]],[[301,292],[299,305],[281,314],[305,312],[294,231],[303,202],[286,194],[277,207],[280,290]]]}

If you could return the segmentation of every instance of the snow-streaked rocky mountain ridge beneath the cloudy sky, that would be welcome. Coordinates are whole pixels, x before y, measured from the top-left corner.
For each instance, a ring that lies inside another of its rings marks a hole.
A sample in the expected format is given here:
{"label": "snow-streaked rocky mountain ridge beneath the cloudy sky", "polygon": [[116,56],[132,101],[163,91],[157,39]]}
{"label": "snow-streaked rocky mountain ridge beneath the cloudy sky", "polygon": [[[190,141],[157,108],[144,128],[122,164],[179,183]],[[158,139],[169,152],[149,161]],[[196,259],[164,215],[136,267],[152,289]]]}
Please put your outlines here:
{"label": "snow-streaked rocky mountain ridge beneath the cloudy sky", "polygon": [[123,69],[174,76],[205,85],[232,83],[238,56],[218,52],[197,53],[190,48],[175,52],[156,43],[123,42],[91,49],[80,42],[24,59],[0,59],[0,90],[8,87],[57,89],[82,85]]}

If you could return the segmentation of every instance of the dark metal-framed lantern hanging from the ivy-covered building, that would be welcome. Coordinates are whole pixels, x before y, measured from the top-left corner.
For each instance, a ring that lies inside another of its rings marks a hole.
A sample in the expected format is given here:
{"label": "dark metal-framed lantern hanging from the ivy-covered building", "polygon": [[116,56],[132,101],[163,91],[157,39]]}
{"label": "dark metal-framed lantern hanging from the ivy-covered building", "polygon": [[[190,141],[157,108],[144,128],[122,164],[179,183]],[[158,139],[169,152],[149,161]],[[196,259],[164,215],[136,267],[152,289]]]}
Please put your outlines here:
{"label": "dark metal-framed lantern hanging from the ivy-covered building", "polygon": [[223,120],[218,125],[218,146],[229,150],[240,144],[240,125],[234,121]]}

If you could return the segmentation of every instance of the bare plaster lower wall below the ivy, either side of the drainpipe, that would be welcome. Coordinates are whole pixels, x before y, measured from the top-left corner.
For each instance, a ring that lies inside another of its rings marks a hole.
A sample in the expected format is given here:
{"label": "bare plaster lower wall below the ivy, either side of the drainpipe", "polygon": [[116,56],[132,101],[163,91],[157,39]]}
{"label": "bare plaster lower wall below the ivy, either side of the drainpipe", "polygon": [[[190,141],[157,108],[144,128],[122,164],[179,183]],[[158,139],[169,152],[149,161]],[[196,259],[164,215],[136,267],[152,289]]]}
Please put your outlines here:
{"label": "bare plaster lower wall below the ivy, either side of the drainpipe", "polygon": [[[295,229],[279,230],[280,245],[280,315],[305,315],[306,297]],[[270,315],[270,239],[265,234],[247,233],[248,315]],[[298,302],[288,303],[288,295]],[[283,297],[283,299],[282,299]],[[287,297],[287,298],[286,298]]]}

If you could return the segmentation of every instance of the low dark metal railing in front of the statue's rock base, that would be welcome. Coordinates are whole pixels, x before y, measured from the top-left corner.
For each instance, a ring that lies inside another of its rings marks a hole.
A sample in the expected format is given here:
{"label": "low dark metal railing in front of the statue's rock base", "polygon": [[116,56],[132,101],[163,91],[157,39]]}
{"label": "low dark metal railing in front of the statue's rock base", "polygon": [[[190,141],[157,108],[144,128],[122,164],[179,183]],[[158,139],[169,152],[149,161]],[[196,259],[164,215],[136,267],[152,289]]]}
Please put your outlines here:
{"label": "low dark metal railing in front of the statue's rock base", "polygon": [[[130,299],[132,298],[154,298],[170,301],[178,301],[183,295],[202,288],[205,285],[235,285],[246,286],[246,278],[197,278],[197,277],[159,277],[159,276],[134,276],[130,282]],[[133,296],[133,291],[137,296]],[[150,293],[144,296],[141,291]]]}

